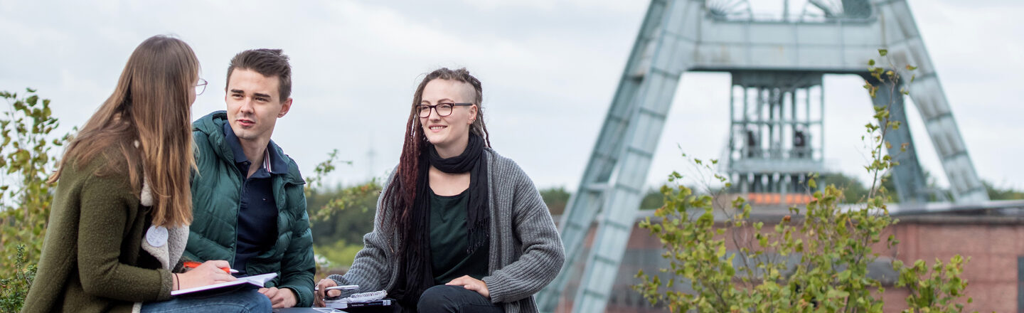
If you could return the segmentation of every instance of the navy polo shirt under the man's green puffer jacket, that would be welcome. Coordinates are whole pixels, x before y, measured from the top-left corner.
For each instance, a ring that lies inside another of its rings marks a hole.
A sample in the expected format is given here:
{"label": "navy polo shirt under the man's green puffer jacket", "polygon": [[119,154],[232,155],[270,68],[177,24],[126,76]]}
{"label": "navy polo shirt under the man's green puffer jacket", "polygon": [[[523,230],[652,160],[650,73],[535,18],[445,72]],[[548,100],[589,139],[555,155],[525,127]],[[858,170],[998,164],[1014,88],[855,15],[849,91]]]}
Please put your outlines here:
{"label": "navy polo shirt under the man's green puffer jacket", "polygon": [[246,262],[250,258],[270,250],[278,236],[278,205],[273,198],[273,177],[288,173],[288,164],[273,148],[273,142],[266,145],[263,163],[256,173],[249,174],[252,164],[242,149],[242,142],[234,135],[229,123],[224,123],[224,139],[234,153],[234,166],[239,169],[242,179],[242,190],[239,192],[239,221],[236,231],[238,239],[234,250],[232,269],[239,270],[236,276],[246,275]]}

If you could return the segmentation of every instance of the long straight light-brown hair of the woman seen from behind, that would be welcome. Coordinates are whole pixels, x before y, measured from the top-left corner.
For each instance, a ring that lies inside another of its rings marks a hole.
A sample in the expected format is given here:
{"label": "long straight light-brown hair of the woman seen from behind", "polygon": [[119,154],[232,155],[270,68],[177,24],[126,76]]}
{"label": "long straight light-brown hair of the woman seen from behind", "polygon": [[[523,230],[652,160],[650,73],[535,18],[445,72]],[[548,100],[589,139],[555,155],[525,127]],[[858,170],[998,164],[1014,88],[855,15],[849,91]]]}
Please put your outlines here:
{"label": "long straight light-brown hair of the woman seen from behind", "polygon": [[135,194],[144,177],[153,193],[153,224],[190,224],[188,176],[196,160],[189,97],[199,70],[196,53],[179,39],[158,35],[139,44],[114,93],[68,145],[49,182],[67,166],[85,166],[114,146],[121,155],[102,155],[106,165],[94,174],[127,170]]}

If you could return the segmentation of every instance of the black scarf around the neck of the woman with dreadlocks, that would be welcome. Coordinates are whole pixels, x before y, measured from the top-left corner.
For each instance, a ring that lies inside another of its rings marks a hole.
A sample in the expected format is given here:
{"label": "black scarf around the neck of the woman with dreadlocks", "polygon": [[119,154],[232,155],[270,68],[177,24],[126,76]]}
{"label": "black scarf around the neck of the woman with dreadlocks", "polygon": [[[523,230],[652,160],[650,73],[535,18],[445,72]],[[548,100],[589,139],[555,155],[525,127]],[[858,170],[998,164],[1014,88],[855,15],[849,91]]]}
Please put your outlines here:
{"label": "black scarf around the neck of the woman with dreadlocks", "polygon": [[[406,229],[406,249],[402,272],[399,273],[395,298],[403,306],[416,307],[420,295],[433,286],[434,274],[430,256],[430,167],[444,173],[469,172],[469,205],[466,207],[468,228],[468,254],[483,247],[489,239],[490,214],[487,210],[487,156],[483,151],[483,138],[470,134],[466,149],[458,156],[443,159],[433,144],[427,142],[420,153],[419,175],[416,181],[416,199],[413,204],[412,223]],[[404,276],[404,277],[401,277]],[[402,285],[403,284],[403,285]]]}

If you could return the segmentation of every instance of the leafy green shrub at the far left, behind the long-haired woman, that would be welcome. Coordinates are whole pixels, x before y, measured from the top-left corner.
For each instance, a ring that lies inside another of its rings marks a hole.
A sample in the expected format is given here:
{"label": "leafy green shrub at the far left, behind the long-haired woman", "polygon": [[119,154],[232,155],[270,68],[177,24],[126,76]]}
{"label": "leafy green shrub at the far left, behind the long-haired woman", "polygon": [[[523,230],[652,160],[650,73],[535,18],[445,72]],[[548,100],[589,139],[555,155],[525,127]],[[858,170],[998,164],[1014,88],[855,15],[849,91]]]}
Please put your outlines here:
{"label": "leafy green shrub at the far left, behind the long-haired woman", "polygon": [[0,92],[8,109],[0,116],[0,310],[22,308],[43,248],[53,185],[46,178],[57,162],[54,147],[70,134],[52,136],[59,125],[49,99],[34,89],[23,96]]}

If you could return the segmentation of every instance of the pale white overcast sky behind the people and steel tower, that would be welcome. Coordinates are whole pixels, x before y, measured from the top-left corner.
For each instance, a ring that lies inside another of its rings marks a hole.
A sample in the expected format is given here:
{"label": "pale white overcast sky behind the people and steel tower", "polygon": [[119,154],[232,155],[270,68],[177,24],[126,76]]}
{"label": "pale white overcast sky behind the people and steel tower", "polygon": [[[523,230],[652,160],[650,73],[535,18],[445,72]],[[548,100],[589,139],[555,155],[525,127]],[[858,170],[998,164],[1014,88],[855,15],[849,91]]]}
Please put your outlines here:
{"label": "pale white overcast sky behind the people and steel tower", "polygon": [[[777,1],[753,0],[778,13]],[[794,2],[802,2],[796,0]],[[0,0],[0,90],[39,89],[62,130],[113,91],[145,38],[173,34],[199,55],[210,88],[193,118],[223,109],[230,57],[281,48],[292,58],[291,113],[273,134],[303,173],[339,149],[330,181],[382,176],[397,162],[413,89],[438,66],[466,66],[484,86],[485,121],[500,153],[541,188],[574,191],[648,2],[640,0],[47,1]],[[910,0],[932,60],[982,179],[1024,188],[1024,2]],[[685,170],[679,148],[721,155],[728,138],[728,74],[683,76],[648,177]],[[870,102],[856,77],[825,78],[825,158],[863,176],[860,142]],[[910,110],[926,170],[943,171]],[[373,150],[374,158],[370,158]]]}

